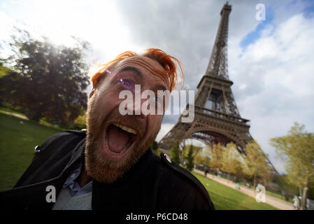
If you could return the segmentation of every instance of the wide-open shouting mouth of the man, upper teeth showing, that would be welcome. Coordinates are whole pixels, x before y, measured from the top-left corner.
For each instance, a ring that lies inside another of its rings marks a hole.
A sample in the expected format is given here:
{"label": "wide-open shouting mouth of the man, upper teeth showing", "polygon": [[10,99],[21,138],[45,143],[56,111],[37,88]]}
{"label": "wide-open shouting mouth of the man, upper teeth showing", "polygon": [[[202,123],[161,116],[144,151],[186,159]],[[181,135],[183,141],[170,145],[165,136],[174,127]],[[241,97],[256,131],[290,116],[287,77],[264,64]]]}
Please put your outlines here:
{"label": "wide-open shouting mouth of the man, upper teeth showing", "polygon": [[105,145],[112,155],[123,155],[134,144],[137,131],[120,123],[110,124],[105,132]]}

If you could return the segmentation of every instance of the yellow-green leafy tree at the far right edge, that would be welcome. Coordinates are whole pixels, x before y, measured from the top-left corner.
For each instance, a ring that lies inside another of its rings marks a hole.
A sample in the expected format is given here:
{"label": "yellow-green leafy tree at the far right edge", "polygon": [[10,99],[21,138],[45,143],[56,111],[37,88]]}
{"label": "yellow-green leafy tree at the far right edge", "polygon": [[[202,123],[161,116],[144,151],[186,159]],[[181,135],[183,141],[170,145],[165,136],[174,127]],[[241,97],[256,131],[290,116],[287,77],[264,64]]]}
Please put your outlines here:
{"label": "yellow-green leafy tree at the far right edge", "polygon": [[309,183],[314,181],[314,134],[304,129],[304,125],[294,123],[287,135],[269,140],[285,162],[287,181],[299,188],[302,209],[306,209]]}

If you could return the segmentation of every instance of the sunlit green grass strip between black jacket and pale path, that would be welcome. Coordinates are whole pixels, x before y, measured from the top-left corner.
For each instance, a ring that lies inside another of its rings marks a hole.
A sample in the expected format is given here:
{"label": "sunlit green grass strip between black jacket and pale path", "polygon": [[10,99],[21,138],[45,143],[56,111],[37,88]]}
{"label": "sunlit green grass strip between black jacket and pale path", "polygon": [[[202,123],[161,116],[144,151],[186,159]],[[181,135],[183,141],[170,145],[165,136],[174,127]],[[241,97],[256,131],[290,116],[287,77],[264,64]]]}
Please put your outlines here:
{"label": "sunlit green grass strip between black jacket and pale path", "polygon": [[192,174],[203,183],[217,210],[276,210],[269,204],[256,202],[255,198],[217,183],[201,174],[195,172]]}

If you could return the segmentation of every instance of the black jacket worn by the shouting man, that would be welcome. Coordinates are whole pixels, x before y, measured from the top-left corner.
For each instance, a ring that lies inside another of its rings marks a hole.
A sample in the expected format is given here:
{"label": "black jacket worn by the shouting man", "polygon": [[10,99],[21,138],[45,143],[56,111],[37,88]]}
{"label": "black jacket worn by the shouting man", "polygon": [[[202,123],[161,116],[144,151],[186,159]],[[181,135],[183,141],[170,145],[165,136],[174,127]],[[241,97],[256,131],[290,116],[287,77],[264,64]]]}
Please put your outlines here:
{"label": "black jacket worn by the shouting man", "polygon": [[[53,135],[34,156],[11,190],[0,192],[3,209],[52,209],[47,186],[59,194],[76,162],[84,160],[85,132]],[[56,196],[57,198],[57,196]],[[92,209],[214,209],[207,190],[187,170],[146,151],[129,172],[112,184],[92,182]]]}

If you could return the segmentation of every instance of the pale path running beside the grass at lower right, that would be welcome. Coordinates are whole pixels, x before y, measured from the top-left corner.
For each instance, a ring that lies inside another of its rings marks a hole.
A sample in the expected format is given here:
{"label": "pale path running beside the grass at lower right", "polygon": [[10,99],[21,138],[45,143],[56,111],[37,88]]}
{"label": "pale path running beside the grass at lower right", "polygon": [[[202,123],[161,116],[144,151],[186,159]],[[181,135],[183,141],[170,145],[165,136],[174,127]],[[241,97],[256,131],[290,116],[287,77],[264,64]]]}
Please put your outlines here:
{"label": "pale path running beside the grass at lower right", "polygon": [[[204,172],[201,172],[197,169],[194,169],[194,172],[201,174],[204,176]],[[256,197],[257,191],[252,190],[251,188],[247,188],[245,186],[241,186],[241,189],[236,189],[236,184],[233,181],[227,181],[218,176],[213,176],[212,174],[207,174],[207,178],[212,179],[213,181],[217,181],[218,183],[222,183],[229,188],[233,188],[235,190],[244,193],[245,195],[249,195],[251,197]],[[262,202],[261,202],[262,203]],[[271,206],[281,209],[281,210],[294,210],[292,203],[286,202],[284,200],[280,200],[278,197],[273,197],[272,195],[266,194],[266,203],[270,204]]]}

